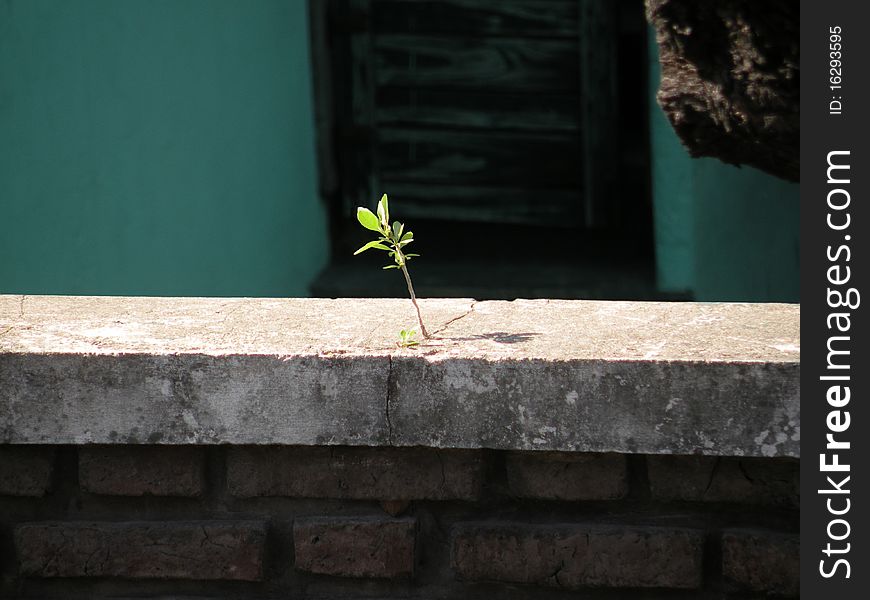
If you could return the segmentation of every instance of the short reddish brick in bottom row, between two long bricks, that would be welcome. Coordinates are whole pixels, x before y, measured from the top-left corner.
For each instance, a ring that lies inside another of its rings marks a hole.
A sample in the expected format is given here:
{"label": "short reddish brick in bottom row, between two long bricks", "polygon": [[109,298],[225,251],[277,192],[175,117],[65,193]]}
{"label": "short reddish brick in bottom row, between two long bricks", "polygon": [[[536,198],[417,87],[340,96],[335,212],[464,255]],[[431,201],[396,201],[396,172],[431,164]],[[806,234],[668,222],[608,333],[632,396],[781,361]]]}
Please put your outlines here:
{"label": "short reddish brick in bottom row, between two long bricks", "polygon": [[409,578],[414,519],[307,518],[293,523],[296,568],[339,577]]}

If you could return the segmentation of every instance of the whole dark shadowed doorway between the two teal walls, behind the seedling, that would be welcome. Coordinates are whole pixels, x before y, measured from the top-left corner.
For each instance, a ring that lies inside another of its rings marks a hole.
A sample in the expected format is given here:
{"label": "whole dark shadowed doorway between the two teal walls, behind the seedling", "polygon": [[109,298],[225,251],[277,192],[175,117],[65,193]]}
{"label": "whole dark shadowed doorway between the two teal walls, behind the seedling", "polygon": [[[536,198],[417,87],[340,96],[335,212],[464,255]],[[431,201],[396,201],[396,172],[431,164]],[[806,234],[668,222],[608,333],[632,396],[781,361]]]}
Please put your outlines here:
{"label": "whole dark shadowed doorway between the two teal walls, behind the seedling", "polygon": [[314,295],[404,293],[351,256],[356,206],[387,193],[421,296],[655,297],[640,0],[310,10],[332,239]]}

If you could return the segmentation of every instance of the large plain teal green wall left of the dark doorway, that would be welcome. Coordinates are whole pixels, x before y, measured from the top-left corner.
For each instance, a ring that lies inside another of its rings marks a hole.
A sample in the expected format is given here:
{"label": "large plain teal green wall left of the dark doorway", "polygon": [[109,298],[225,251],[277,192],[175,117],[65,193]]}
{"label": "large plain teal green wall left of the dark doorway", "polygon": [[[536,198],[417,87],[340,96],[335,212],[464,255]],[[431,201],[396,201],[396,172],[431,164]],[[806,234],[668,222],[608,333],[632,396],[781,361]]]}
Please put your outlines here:
{"label": "large plain teal green wall left of the dark doorway", "polygon": [[0,1],[0,292],[305,295],[305,4]]}

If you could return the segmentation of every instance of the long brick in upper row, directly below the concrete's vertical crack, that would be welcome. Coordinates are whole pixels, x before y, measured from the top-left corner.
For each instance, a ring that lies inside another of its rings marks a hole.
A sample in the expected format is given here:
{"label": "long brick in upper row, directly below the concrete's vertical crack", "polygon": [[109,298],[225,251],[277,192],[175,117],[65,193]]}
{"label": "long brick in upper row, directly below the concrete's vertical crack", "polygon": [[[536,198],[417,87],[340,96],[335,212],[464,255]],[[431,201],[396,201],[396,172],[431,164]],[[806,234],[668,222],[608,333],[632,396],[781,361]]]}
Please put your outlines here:
{"label": "long brick in upper row, directly below the concrete's vertical crack", "polygon": [[265,446],[230,448],[227,485],[237,497],[474,500],[483,462],[463,450]]}

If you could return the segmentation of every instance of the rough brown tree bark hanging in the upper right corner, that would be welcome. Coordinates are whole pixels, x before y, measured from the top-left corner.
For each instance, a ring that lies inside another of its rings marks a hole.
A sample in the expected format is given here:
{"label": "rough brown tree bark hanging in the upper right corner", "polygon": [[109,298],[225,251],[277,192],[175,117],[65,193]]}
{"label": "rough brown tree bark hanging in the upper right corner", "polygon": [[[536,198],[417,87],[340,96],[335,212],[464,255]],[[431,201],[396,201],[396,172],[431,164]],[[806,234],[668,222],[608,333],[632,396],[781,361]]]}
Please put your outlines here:
{"label": "rough brown tree bark hanging in the upper right corner", "polygon": [[658,103],[692,156],[800,177],[797,0],[647,0]]}

